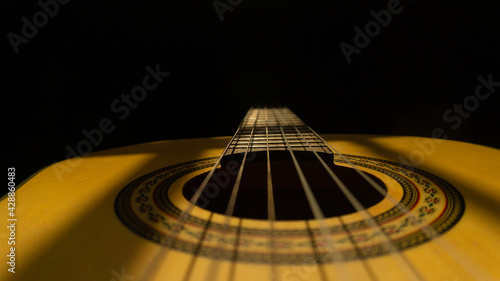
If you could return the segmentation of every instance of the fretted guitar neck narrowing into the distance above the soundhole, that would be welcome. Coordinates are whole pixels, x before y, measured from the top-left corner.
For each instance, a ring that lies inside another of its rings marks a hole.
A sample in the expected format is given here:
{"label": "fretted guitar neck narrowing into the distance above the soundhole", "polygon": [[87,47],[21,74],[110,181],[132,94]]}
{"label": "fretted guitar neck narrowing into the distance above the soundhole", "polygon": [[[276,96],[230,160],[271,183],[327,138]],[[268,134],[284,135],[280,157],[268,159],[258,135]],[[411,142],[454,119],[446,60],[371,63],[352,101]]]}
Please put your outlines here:
{"label": "fretted guitar neck narrowing into the distance above the soundhole", "polygon": [[323,141],[288,108],[251,108],[225,155],[249,152],[316,151],[331,154]]}

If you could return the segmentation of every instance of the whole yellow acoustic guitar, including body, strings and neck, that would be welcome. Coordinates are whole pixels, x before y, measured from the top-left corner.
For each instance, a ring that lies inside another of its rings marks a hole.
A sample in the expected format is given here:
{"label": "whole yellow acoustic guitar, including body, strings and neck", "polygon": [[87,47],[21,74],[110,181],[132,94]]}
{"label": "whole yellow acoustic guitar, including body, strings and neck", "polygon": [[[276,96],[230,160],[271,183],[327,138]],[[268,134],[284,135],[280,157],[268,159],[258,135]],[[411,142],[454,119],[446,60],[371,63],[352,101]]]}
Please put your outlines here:
{"label": "whole yellow acoustic guitar, including body, strings and neck", "polygon": [[251,108],[232,137],[95,152],[9,184],[0,279],[500,280],[499,165],[490,147],[319,135]]}

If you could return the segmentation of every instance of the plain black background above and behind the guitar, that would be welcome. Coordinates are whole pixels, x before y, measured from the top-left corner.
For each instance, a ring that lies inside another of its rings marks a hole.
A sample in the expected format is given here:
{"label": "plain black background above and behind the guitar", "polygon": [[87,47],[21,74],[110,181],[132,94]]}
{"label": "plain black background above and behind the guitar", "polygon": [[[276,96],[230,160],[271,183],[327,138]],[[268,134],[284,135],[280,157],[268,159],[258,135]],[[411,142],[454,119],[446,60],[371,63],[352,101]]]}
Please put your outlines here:
{"label": "plain black background above and behind the guitar", "polygon": [[[500,88],[456,130],[443,120],[479,75],[500,81],[498,1],[402,0],[347,63],[339,44],[354,44],[353,28],[388,2],[243,0],[221,21],[211,0],[71,0],[17,54],[7,34],[41,8],[3,3],[6,165],[20,182],[103,118],[116,129],[94,151],[232,135],[263,105],[286,105],[320,133],[430,137],[440,127],[498,148]],[[170,76],[120,120],[111,103],[157,64]]]}

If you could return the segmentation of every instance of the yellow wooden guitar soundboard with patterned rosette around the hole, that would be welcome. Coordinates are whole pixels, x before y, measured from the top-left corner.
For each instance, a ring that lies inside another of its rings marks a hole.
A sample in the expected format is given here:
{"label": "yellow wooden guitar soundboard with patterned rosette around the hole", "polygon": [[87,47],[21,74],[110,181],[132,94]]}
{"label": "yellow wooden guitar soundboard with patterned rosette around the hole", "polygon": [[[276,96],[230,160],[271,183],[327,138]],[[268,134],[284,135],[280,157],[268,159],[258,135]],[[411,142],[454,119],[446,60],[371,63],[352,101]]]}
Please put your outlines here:
{"label": "yellow wooden guitar soundboard with patterned rosette around the hole", "polygon": [[[0,279],[411,280],[403,257],[423,280],[500,280],[499,150],[417,137],[322,137],[404,201],[407,216],[386,198],[367,208],[397,253],[358,212],[326,215],[326,228],[278,219],[270,232],[267,220],[227,220],[200,206],[166,247],[191,205],[183,187],[207,173],[231,139],[202,138],[101,151],[39,171],[16,191],[16,273],[3,255]],[[344,160],[334,158],[349,167]],[[205,200],[220,190],[210,192]],[[4,222],[7,204],[4,197]],[[425,235],[426,226],[438,235]],[[340,255],[324,248],[321,229]]]}

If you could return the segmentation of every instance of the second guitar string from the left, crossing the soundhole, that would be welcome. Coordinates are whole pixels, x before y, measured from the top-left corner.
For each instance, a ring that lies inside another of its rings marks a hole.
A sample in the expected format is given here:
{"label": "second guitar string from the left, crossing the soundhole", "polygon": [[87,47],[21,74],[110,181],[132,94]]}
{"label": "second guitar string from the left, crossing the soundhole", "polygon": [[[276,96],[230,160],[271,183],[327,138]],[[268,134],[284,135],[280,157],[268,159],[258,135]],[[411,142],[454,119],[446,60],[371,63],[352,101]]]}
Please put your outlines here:
{"label": "second guitar string from the left, crossing the soundhole", "polygon": [[[250,111],[252,111],[252,109],[250,109],[249,112]],[[246,159],[248,156],[248,151],[250,150],[251,144],[253,142],[252,138],[253,138],[253,134],[255,131],[255,126],[257,124],[258,117],[259,117],[259,112],[257,112],[257,116],[254,119],[254,122],[252,125],[252,130],[251,130],[250,135],[248,137],[248,143],[247,143],[247,146],[245,148],[245,153],[243,155],[243,160],[241,160],[241,165],[238,169],[238,174],[236,176],[236,180],[235,180],[235,183],[233,185],[233,189],[231,191],[231,196],[229,198],[229,201],[228,201],[228,204],[226,207],[224,224],[223,224],[224,230],[222,231],[224,233],[224,236],[226,236],[226,234],[228,234],[230,232],[230,228],[231,228],[230,223],[231,223],[231,219],[233,218],[234,208],[236,206],[236,199],[238,196],[238,191],[240,189],[241,178],[243,176],[243,170],[245,168],[245,162],[246,162]],[[247,118],[251,118],[251,114]],[[239,220],[241,222],[241,218],[239,218]],[[241,227],[241,224],[240,224],[240,227]],[[236,235],[238,235],[238,233],[239,232],[237,232]],[[237,243],[237,241],[238,241],[238,237],[236,237],[235,243]],[[217,279],[216,277],[217,277],[219,266],[220,266],[219,258],[222,258],[221,257],[221,255],[222,255],[222,245],[221,245],[222,242],[223,242],[222,240],[219,240],[219,243],[216,247],[216,249],[217,249],[217,253],[215,254],[216,258],[211,260],[211,265],[209,266],[209,271],[208,271],[207,276],[205,278],[205,280],[207,280],[207,281],[212,281],[212,280]],[[236,251],[238,245],[235,244],[234,247],[235,247],[235,251]],[[237,253],[237,251],[235,253]],[[236,266],[235,261],[236,260],[234,260],[234,262],[231,264],[231,267],[230,267],[230,273],[233,272],[233,274],[235,271],[234,266]]]}

